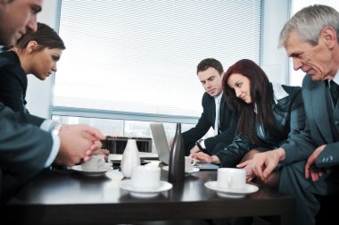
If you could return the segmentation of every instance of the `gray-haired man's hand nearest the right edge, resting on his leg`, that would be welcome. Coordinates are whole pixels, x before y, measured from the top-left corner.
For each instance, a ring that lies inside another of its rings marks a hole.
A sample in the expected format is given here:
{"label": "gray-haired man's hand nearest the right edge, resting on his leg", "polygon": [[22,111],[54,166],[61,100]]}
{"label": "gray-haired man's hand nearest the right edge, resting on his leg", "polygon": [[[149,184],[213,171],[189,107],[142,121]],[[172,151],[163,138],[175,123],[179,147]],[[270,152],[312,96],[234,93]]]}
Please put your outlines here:
{"label": "gray-haired man's hand nearest the right edge, resting on his leg", "polygon": [[305,179],[310,178],[312,181],[317,181],[323,175],[323,171],[316,168],[314,164],[317,162],[318,155],[324,151],[326,146],[327,145],[318,146],[318,148],[310,154],[310,157],[305,164]]}

